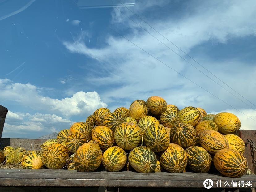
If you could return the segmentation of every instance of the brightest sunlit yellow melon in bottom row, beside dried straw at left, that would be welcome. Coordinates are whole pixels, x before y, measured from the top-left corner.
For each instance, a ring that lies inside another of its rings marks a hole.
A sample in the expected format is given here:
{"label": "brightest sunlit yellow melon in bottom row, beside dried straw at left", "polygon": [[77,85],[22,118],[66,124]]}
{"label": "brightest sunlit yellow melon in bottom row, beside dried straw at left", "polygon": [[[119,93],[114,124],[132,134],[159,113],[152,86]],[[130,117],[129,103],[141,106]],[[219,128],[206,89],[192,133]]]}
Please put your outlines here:
{"label": "brightest sunlit yellow melon in bottom row, beside dried straw at left", "polygon": [[42,169],[44,163],[42,161],[42,155],[40,151],[30,151],[26,153],[21,161],[23,169]]}

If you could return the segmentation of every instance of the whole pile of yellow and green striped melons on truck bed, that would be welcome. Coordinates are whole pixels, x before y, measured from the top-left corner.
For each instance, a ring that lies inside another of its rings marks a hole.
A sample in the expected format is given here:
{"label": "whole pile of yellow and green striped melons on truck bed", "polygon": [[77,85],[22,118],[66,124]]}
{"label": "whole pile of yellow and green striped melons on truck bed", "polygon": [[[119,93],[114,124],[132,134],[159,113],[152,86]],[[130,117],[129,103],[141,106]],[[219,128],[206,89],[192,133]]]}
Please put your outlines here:
{"label": "whole pile of yellow and green striped melons on truck bed", "polygon": [[219,171],[241,177],[248,163],[245,143],[235,133],[240,120],[232,113],[207,114],[202,108],[167,104],[159,96],[135,100],[113,113],[99,108],[85,122],[61,130],[42,150],[0,150],[0,163],[24,169],[105,169],[139,173]]}

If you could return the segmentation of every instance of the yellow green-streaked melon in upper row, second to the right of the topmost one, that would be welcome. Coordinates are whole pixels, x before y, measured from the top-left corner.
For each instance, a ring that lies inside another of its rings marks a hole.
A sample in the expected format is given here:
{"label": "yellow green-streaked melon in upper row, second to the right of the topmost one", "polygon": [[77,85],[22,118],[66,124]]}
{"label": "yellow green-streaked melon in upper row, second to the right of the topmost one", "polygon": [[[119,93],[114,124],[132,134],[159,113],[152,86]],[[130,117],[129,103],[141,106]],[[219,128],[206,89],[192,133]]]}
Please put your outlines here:
{"label": "yellow green-streaked melon in upper row, second to the right of the topmost one", "polygon": [[201,112],[195,107],[185,107],[178,112],[181,123],[188,123],[193,127],[201,120]]}

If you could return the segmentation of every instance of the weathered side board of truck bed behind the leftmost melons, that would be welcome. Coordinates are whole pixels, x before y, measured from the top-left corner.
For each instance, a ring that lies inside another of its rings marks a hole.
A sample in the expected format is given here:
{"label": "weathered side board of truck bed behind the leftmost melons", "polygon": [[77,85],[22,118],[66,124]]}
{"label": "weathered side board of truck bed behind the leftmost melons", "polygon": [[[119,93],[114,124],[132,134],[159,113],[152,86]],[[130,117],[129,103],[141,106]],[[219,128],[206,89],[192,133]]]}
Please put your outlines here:
{"label": "weathered side board of truck bed behind the leftmost melons", "polygon": [[48,139],[20,139],[20,138],[2,138],[0,141],[0,149],[6,146],[23,147],[26,150],[39,150],[39,145]]}

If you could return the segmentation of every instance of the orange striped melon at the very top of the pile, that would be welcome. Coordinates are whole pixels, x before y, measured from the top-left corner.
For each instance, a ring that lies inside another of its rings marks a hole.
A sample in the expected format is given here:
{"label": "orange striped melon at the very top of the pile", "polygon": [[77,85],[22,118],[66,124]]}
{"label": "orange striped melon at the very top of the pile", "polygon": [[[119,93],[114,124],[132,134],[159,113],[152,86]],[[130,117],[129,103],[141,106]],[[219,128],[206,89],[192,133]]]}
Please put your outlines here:
{"label": "orange striped melon at the very top of the pile", "polygon": [[166,101],[159,96],[151,96],[147,99],[147,105],[150,113],[160,115],[166,110]]}

